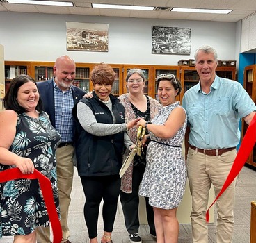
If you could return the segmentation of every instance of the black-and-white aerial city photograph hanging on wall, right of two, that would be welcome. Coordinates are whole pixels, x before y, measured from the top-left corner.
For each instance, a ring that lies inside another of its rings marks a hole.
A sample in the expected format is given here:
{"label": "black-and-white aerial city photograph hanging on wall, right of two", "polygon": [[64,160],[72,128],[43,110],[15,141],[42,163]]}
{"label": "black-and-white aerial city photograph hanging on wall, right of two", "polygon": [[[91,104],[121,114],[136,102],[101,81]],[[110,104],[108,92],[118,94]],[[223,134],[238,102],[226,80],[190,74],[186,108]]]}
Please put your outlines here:
{"label": "black-and-white aerial city photograph hanging on wall, right of two", "polygon": [[190,55],[191,28],[152,26],[152,53]]}

